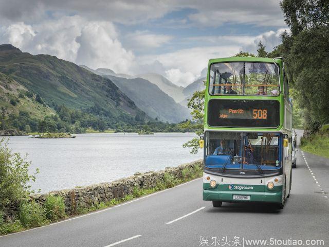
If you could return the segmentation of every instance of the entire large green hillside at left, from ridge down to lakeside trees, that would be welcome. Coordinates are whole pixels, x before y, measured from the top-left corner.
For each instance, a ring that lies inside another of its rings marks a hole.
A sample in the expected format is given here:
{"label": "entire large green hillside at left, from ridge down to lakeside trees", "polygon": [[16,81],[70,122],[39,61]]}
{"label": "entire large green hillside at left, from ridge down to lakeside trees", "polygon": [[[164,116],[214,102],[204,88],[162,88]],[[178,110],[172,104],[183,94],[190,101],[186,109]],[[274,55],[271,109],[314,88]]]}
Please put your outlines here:
{"label": "entire large green hillside at left, from ridge down to lakeside trees", "polygon": [[[0,109],[8,128],[80,132],[150,120],[110,79],[57,57],[0,45],[0,73]],[[17,118],[22,115],[24,120]]]}

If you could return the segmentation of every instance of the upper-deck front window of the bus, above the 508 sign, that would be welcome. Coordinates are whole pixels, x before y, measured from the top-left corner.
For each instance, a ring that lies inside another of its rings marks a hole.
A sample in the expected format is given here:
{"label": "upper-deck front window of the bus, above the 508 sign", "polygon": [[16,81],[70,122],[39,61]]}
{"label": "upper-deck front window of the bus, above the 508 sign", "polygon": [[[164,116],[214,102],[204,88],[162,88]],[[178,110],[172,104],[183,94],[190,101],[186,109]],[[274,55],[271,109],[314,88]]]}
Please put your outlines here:
{"label": "upper-deck front window of the bus, above the 508 sign", "polygon": [[273,63],[225,62],[210,66],[210,95],[280,94],[278,67]]}

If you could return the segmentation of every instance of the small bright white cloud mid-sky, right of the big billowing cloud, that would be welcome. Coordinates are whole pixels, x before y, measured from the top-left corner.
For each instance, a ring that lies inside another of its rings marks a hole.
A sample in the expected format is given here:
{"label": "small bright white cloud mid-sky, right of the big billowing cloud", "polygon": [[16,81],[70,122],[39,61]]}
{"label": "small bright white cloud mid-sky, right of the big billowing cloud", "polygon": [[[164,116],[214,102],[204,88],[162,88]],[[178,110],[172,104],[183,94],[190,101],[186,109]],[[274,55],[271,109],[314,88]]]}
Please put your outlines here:
{"label": "small bright white cloud mid-sky, right of the big billowing cloud", "polygon": [[166,34],[155,34],[147,30],[136,31],[127,35],[129,46],[132,48],[156,48],[168,43],[173,37]]}

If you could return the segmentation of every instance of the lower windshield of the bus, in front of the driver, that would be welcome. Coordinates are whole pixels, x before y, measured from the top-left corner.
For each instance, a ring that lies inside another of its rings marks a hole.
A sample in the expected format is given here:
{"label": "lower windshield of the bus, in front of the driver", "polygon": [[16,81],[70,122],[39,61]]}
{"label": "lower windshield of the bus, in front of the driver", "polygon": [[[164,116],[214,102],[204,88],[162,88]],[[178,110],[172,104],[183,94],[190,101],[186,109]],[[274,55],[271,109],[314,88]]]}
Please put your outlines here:
{"label": "lower windshield of the bus, in front of the driver", "polygon": [[280,133],[206,132],[209,168],[272,170],[281,167]]}

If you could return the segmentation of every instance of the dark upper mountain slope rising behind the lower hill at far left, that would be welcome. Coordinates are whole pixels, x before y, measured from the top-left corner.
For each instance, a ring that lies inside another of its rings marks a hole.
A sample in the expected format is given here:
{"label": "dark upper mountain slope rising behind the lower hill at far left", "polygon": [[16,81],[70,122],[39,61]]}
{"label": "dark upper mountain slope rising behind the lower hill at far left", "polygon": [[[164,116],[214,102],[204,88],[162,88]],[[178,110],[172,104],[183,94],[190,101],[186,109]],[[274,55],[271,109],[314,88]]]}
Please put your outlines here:
{"label": "dark upper mountain slope rising behind the lower hill at far left", "polygon": [[0,72],[41,96],[51,108],[65,105],[126,122],[145,115],[110,79],[57,57],[0,45]]}

